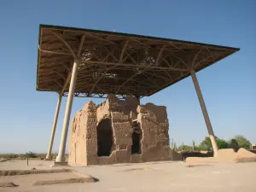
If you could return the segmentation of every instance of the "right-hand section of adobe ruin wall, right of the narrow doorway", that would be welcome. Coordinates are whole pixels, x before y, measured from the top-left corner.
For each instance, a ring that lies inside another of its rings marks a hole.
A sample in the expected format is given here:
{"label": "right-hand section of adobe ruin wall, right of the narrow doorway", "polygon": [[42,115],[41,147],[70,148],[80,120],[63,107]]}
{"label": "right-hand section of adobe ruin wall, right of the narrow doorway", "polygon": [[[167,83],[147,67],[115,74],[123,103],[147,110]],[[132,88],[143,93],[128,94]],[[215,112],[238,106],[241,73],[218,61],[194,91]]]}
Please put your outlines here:
{"label": "right-hand section of adobe ruin wall, right of the narrow doorway", "polygon": [[147,103],[144,106],[138,106],[137,113],[137,121],[143,131],[143,162],[171,160],[166,107]]}

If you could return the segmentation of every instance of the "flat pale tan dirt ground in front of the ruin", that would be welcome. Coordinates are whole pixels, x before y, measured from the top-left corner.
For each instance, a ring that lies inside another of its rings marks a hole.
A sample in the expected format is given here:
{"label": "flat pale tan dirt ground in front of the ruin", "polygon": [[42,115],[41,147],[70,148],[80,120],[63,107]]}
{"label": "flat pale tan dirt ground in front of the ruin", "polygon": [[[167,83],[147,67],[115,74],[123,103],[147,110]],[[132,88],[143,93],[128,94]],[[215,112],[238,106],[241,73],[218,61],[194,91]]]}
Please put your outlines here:
{"label": "flat pale tan dirt ground in front of the ruin", "polygon": [[[15,169],[53,169],[52,163],[43,160],[5,161],[0,163],[0,170]],[[40,165],[40,166],[39,166]],[[59,169],[56,167],[54,169]],[[184,162],[152,162],[141,164],[120,164],[113,166],[71,166],[77,172],[90,174],[99,179],[96,183],[69,183],[44,186],[31,186],[31,181],[40,175],[15,176],[23,179],[22,186],[0,188],[0,192],[256,192],[256,163],[223,163],[191,165]],[[67,177],[64,174],[63,177]],[[47,177],[46,175],[40,177]],[[1,181],[6,178],[0,177]],[[12,181],[9,181],[12,182]],[[15,183],[15,182],[14,182]]]}

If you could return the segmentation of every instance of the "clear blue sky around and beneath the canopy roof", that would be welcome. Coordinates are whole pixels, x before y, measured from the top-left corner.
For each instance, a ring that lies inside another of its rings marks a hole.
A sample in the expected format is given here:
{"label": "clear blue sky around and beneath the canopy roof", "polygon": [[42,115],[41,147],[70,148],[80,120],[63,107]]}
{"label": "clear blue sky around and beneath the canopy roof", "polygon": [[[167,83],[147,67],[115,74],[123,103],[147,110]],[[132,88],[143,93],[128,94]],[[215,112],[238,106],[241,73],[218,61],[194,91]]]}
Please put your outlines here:
{"label": "clear blue sky around and beneath the canopy roof", "polygon": [[[46,152],[57,95],[36,91],[39,24],[137,33],[241,48],[197,73],[218,137],[256,143],[256,1],[14,1],[0,3],[0,153]],[[75,98],[72,116],[90,98]],[[94,102],[102,100],[94,99]],[[145,102],[166,105],[170,138],[207,136],[190,78]],[[60,143],[66,99],[55,135]]]}

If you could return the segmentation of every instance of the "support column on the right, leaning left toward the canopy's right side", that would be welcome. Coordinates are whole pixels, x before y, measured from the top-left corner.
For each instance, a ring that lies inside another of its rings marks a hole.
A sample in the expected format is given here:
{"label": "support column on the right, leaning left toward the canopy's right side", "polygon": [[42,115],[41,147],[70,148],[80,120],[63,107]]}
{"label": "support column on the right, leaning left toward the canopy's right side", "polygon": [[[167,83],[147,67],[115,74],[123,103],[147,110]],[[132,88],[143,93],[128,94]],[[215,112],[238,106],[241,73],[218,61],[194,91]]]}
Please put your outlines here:
{"label": "support column on the right, leaning left toward the canopy's right side", "polygon": [[209,137],[211,139],[213,153],[214,153],[214,156],[217,156],[218,155],[218,146],[217,146],[217,143],[215,141],[215,136],[214,136],[214,133],[213,133],[213,130],[212,130],[212,124],[211,124],[211,121],[210,121],[210,118],[209,118],[209,115],[208,115],[208,112],[207,112],[207,107],[206,107],[206,104],[204,102],[204,98],[201,94],[201,89],[200,89],[198,80],[196,78],[195,71],[191,71],[190,73],[191,73],[191,77],[192,77],[194,85],[195,85],[195,90],[196,90],[196,93],[197,93],[197,96],[198,96],[198,100],[199,100],[200,105],[201,105],[201,111],[204,115],[204,118],[205,118],[205,121],[206,121],[206,124],[207,124],[207,130],[208,130],[208,133],[209,133]]}

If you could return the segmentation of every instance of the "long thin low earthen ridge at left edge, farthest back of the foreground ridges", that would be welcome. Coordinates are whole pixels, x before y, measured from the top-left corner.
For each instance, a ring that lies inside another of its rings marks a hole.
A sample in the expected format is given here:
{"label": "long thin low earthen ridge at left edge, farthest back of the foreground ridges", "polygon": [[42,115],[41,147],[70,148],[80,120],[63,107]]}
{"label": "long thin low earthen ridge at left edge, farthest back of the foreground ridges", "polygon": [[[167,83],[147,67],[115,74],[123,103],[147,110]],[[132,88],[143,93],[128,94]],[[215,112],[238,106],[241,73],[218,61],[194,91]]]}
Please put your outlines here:
{"label": "long thin low earthen ridge at left edge, farthest back of the foreground ridges", "polygon": [[53,169],[53,170],[0,170],[0,176],[42,174],[42,173],[58,173],[72,172],[70,169]]}

